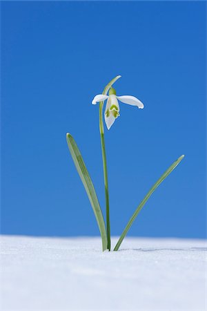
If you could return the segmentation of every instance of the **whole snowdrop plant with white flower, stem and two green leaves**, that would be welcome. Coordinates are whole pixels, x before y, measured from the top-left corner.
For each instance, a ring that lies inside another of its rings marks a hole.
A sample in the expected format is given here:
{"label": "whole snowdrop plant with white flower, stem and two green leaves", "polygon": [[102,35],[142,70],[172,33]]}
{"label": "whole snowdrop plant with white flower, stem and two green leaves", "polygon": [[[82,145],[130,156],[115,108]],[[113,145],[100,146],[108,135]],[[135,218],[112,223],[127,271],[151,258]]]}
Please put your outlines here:
{"label": "whole snowdrop plant with white flower, stem and two green leaves", "polygon": [[[83,186],[86,189],[86,193],[88,194],[88,198],[90,200],[90,204],[95,214],[95,218],[97,220],[97,224],[99,226],[99,231],[101,234],[101,241],[102,241],[102,249],[103,251],[108,249],[110,250],[110,213],[109,213],[109,195],[108,195],[108,172],[107,172],[107,164],[106,164],[106,149],[105,149],[105,140],[104,140],[104,128],[103,128],[103,102],[107,100],[106,109],[104,113],[104,119],[106,122],[106,126],[108,129],[112,126],[115,122],[117,117],[119,117],[119,103],[118,100],[124,102],[125,104],[130,104],[132,106],[137,106],[139,109],[144,108],[144,104],[137,99],[137,97],[124,95],[124,96],[117,96],[115,88],[112,88],[112,85],[119,79],[121,75],[118,75],[114,79],[112,79],[104,88],[103,93],[96,95],[92,100],[92,104],[97,104],[99,102],[99,131],[101,136],[101,151],[102,151],[102,160],[103,160],[103,178],[104,178],[104,186],[105,186],[105,197],[106,197],[106,226],[103,220],[103,214],[101,211],[101,207],[99,205],[99,200],[97,198],[97,194],[95,191],[95,187],[92,184],[92,180],[86,169],[86,164],[83,161],[81,153],[77,147],[75,140],[72,138],[72,135],[69,133],[66,134],[66,140],[68,142],[68,148],[70,150],[72,160],[75,163],[75,167],[79,173],[79,176],[83,182]],[[108,93],[108,95],[107,95]],[[145,203],[147,202],[148,198],[152,195],[155,189],[165,180],[165,178],[177,167],[179,162],[184,158],[180,156],[175,162],[173,162],[170,167],[161,175],[159,180],[155,182],[155,185],[152,186],[148,194],[144,197],[141,201],[137,209],[135,210],[134,214],[128,221],[124,231],[122,232],[117,245],[115,246],[114,251],[117,251],[124,240],[128,230],[130,229],[132,223],[134,222],[135,218],[141,211],[142,207],[144,207]]]}

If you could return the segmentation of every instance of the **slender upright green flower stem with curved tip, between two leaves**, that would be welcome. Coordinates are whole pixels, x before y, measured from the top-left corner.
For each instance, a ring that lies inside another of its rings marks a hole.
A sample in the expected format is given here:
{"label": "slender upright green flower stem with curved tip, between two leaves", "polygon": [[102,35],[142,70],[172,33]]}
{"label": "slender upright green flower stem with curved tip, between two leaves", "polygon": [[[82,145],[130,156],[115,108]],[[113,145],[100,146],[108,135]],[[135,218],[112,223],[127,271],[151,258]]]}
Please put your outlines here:
{"label": "slender upright green flower stem with curved tip, between two leaves", "polygon": [[[108,90],[114,84],[121,75],[117,75],[112,79],[104,88],[103,94],[106,95]],[[102,160],[103,160],[103,178],[104,178],[104,187],[105,187],[105,197],[106,197],[106,233],[108,241],[108,250],[110,250],[110,212],[109,212],[109,195],[108,195],[108,173],[107,173],[107,163],[106,163],[106,148],[104,140],[104,128],[103,128],[103,102],[99,104],[99,131],[101,135],[101,151],[102,151]]]}

